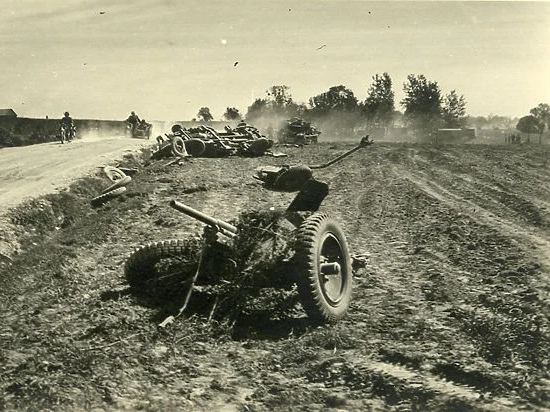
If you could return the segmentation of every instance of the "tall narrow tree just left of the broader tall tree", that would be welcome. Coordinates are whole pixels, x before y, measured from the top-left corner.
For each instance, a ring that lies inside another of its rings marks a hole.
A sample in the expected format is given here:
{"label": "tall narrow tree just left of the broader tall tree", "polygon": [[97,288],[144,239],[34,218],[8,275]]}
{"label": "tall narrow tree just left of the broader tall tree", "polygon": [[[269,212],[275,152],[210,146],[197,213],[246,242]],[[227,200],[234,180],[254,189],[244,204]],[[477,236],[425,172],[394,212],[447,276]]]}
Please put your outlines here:
{"label": "tall narrow tree just left of the broader tall tree", "polygon": [[369,124],[388,126],[395,111],[395,96],[392,91],[391,77],[388,73],[376,74],[372,80],[367,91],[367,98],[363,103],[363,113]]}

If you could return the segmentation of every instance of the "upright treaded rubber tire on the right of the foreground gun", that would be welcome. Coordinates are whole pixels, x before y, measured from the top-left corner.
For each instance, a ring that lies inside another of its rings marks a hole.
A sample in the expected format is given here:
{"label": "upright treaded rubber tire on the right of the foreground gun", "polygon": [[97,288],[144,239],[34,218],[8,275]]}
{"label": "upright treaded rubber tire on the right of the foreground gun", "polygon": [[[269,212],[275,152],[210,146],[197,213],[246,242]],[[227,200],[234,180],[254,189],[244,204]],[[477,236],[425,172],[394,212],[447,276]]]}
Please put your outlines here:
{"label": "upright treaded rubber tire on the right of the foreground gun", "polygon": [[[338,256],[341,284],[334,299],[327,296],[321,282],[321,248],[328,239],[335,242],[341,252]],[[353,275],[348,243],[340,225],[324,213],[314,213],[305,219],[296,234],[294,259],[298,293],[310,319],[320,324],[342,319],[351,302]]]}

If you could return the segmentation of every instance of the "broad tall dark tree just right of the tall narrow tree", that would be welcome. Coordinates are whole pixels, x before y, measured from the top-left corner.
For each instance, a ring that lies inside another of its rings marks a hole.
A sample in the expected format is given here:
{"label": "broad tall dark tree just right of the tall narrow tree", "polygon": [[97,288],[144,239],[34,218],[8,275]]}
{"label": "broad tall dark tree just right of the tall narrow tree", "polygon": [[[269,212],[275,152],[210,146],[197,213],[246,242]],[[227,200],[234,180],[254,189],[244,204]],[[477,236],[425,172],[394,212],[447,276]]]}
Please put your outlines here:
{"label": "broad tall dark tree just right of the tall narrow tree", "polygon": [[431,133],[441,124],[441,90],[423,74],[409,74],[403,84],[405,121],[415,132]]}

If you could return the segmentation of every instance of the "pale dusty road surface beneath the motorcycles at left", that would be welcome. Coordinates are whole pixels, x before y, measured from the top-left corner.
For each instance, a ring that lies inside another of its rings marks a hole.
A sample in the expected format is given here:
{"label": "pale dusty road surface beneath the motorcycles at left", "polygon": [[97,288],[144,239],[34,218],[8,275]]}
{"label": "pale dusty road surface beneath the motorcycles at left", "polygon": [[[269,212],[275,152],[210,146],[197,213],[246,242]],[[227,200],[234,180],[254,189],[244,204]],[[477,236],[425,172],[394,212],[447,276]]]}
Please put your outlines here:
{"label": "pale dusty road surface beneath the motorcycles at left", "polygon": [[56,192],[151,142],[113,137],[4,148],[0,150],[0,206],[6,210],[25,199]]}

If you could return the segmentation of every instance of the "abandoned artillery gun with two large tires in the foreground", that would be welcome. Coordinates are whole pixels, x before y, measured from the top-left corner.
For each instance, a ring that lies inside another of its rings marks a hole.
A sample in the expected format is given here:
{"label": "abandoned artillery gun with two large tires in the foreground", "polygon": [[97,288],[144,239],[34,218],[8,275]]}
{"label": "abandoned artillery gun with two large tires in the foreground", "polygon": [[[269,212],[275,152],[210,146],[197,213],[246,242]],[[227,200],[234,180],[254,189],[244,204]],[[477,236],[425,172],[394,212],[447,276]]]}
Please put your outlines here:
{"label": "abandoned artillery gun with two large tires in the foreground", "polygon": [[[176,294],[183,301],[176,316],[188,307],[193,291],[207,287],[215,297],[209,318],[216,310],[224,315],[242,310],[248,298],[275,288],[297,290],[292,296],[314,323],[342,319],[351,302],[356,262],[341,226],[318,212],[328,184],[316,180],[312,170],[328,167],[371,143],[367,136],[322,165],[258,170],[254,177],[266,189],[298,192],[284,211],[243,213],[237,222],[228,223],[172,200],[172,208],[206,225],[200,241],[167,240],[139,247],[125,264],[128,283],[148,293],[164,285],[170,296],[185,289]],[[203,309],[206,302],[201,299]]]}

